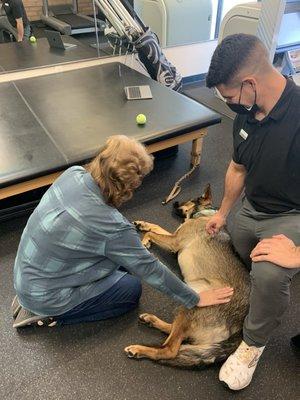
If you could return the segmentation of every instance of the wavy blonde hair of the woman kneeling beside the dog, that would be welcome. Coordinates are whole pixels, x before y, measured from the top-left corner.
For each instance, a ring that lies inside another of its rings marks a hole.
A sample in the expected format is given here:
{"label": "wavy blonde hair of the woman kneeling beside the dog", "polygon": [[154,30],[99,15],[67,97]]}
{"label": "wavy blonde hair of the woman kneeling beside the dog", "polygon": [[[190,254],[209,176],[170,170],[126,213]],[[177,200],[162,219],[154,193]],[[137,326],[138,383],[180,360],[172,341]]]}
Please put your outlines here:
{"label": "wavy blonde hair of the woman kneeling beside the dog", "polygon": [[124,135],[110,136],[87,165],[106,203],[114,207],[131,199],[134,190],[152,169],[153,157],[145,146]]}

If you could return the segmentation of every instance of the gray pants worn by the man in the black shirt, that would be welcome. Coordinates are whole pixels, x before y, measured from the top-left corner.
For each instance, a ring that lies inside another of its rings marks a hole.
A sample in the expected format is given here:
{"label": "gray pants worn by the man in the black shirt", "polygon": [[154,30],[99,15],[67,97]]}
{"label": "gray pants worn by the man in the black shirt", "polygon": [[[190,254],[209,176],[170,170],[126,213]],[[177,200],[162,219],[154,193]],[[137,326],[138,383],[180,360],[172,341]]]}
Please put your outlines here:
{"label": "gray pants worn by the man in the black shirt", "polygon": [[245,198],[230,234],[236,251],[251,269],[250,309],[244,322],[244,341],[249,346],[264,346],[289,306],[291,280],[300,268],[282,268],[265,261],[253,263],[250,253],[260,240],[279,234],[300,246],[300,211],[266,214],[256,211]]}

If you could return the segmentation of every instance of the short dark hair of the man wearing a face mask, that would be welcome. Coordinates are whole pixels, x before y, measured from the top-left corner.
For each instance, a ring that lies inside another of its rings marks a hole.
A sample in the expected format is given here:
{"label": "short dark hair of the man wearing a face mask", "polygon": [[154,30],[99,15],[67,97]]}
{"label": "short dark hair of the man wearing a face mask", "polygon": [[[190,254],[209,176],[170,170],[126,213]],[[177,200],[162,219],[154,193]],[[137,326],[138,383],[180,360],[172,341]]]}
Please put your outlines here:
{"label": "short dark hair of the man wearing a face mask", "polygon": [[238,33],[227,36],[214,51],[206,76],[206,86],[211,88],[228,84],[250,60],[253,60],[252,56],[256,50],[266,55],[263,43],[254,35]]}

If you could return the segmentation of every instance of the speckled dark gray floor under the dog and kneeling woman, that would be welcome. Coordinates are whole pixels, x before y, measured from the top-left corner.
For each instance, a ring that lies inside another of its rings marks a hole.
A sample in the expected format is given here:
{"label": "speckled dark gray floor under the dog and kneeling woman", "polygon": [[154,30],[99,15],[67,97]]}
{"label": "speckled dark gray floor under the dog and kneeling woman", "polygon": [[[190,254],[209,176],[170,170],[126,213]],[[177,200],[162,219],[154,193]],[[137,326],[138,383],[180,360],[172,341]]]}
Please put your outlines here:
{"label": "speckled dark gray floor under the dog and kneeling woman", "polygon": [[[201,167],[183,186],[179,200],[199,195],[207,182],[215,205],[220,204],[223,178],[231,158],[232,121],[209,129]],[[180,221],[172,205],[162,206],[174,181],[189,164],[190,146],[177,157],[160,160],[123,213],[129,220],[144,219],[174,230]],[[198,400],[299,399],[299,358],[289,339],[300,330],[300,274],[292,284],[291,306],[264,352],[252,384],[231,393],[218,382],[219,366],[203,371],[180,370],[147,360],[131,360],[123,353],[129,344],[160,344],[163,335],[140,325],[139,313],[153,312],[170,321],[176,304],[144,285],[137,310],[126,316],[60,328],[12,328],[9,307],[14,295],[13,263],[27,217],[0,224],[0,399],[9,400]],[[232,223],[232,220],[231,220]],[[176,258],[153,248],[178,273]]]}

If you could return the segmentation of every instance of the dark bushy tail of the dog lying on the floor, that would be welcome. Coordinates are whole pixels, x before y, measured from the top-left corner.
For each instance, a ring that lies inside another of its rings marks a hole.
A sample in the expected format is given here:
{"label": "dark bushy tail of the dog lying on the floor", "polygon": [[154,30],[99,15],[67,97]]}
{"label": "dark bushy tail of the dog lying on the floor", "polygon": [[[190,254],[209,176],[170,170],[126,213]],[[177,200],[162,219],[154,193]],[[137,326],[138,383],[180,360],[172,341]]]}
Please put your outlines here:
{"label": "dark bushy tail of the dog lying on the floor", "polygon": [[242,333],[238,332],[223,342],[210,347],[185,344],[179,349],[177,356],[170,360],[159,360],[160,364],[179,368],[201,369],[210,364],[224,361],[232,354],[242,341]]}

